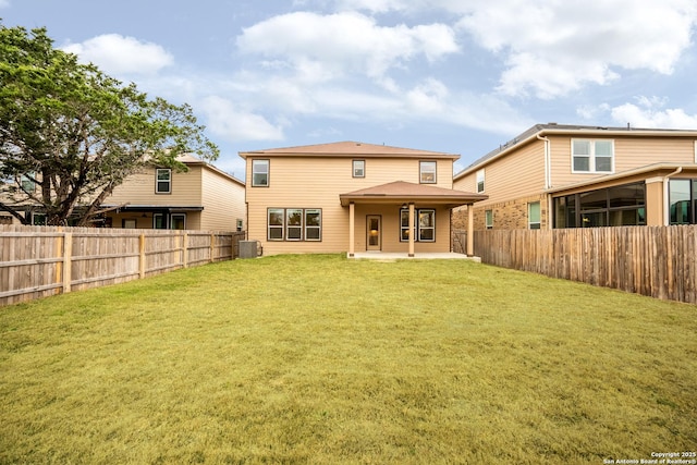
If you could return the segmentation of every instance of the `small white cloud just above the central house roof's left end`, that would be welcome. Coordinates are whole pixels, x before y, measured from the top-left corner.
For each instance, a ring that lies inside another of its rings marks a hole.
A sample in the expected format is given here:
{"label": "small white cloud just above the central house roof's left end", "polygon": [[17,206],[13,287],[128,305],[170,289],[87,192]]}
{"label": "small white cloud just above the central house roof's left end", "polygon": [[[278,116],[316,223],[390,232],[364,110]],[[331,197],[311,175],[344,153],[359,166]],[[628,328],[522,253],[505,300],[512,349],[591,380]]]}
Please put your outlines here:
{"label": "small white cloud just above the central house roof's left end", "polygon": [[222,97],[207,97],[198,103],[206,115],[206,127],[228,142],[282,140],[282,125],[273,125],[264,117],[235,107]]}

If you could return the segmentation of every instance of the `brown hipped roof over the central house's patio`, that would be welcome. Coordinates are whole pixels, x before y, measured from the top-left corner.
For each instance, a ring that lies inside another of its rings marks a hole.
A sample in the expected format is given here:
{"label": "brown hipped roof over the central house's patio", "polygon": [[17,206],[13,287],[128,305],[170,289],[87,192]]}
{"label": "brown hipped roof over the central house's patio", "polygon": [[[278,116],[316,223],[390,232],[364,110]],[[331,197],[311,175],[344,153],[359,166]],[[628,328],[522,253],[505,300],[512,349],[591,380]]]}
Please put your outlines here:
{"label": "brown hipped roof over the central house's patio", "polygon": [[363,188],[339,195],[342,206],[354,201],[356,204],[400,204],[426,201],[435,205],[456,207],[489,198],[487,195],[452,188],[436,187],[427,184],[414,184],[395,181],[374,187]]}

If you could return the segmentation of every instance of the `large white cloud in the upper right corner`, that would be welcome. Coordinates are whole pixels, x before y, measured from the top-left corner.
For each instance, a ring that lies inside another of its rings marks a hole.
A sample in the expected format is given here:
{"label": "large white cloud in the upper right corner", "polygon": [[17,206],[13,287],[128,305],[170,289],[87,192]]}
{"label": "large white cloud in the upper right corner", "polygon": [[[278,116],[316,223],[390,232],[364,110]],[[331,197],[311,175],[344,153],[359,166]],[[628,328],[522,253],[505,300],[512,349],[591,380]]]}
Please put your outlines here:
{"label": "large white cloud in the upper right corner", "polygon": [[694,0],[521,0],[472,5],[458,26],[502,56],[504,95],[551,98],[608,84],[621,69],[671,74],[690,46]]}

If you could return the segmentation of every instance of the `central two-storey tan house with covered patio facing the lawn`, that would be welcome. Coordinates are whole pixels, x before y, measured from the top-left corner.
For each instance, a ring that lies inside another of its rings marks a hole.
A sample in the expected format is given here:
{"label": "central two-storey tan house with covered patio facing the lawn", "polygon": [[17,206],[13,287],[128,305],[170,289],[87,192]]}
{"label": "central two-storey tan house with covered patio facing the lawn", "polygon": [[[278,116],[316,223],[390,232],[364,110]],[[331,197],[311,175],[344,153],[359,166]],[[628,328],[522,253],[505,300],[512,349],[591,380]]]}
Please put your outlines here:
{"label": "central two-storey tan house with covered patio facing the lawn", "polygon": [[486,198],[452,188],[457,155],[341,142],[240,156],[265,255],[450,252],[451,209]]}

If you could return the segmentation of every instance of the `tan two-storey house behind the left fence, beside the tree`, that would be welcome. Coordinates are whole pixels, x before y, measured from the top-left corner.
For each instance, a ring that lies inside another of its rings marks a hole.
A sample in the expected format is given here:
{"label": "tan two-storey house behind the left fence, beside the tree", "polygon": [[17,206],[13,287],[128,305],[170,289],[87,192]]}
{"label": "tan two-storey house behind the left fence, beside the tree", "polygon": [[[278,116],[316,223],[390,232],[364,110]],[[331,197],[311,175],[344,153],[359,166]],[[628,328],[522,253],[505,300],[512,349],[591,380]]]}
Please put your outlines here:
{"label": "tan two-storey house behind the left fence, beside the tree", "polygon": [[191,155],[188,171],[150,168],[118,186],[102,204],[106,227],[243,231],[244,182]]}

